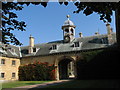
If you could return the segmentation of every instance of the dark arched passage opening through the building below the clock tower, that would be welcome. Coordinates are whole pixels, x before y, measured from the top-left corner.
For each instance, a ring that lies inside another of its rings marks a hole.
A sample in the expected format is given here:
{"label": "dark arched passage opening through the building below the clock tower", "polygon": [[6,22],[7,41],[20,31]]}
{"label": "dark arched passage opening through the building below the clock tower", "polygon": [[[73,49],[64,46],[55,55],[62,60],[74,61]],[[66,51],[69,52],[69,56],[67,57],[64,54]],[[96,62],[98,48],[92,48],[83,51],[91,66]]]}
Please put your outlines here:
{"label": "dark arched passage opening through the building below the clock tower", "polygon": [[74,78],[74,62],[70,59],[63,59],[59,62],[59,79]]}

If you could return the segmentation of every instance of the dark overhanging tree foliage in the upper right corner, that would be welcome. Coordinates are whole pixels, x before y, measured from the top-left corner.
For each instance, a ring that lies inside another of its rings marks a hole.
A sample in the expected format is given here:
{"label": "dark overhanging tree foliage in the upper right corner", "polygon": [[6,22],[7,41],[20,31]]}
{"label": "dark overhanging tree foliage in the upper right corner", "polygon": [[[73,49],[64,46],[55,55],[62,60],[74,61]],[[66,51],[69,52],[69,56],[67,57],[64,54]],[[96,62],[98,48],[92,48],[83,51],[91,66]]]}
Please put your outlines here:
{"label": "dark overhanging tree foliage in the upper right corner", "polygon": [[75,6],[77,7],[77,11],[74,11],[74,13],[83,11],[88,16],[95,12],[100,15],[100,20],[111,22],[113,11],[120,8],[120,2],[76,2]]}

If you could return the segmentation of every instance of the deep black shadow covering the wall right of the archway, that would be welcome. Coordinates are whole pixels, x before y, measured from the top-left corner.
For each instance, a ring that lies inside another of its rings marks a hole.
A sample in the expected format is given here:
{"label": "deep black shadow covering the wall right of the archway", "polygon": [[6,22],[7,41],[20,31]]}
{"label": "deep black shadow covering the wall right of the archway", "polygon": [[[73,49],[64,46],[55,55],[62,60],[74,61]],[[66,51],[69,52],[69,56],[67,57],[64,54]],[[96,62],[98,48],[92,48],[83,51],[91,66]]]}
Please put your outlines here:
{"label": "deep black shadow covering the wall right of the archway", "polygon": [[99,52],[88,61],[78,60],[77,79],[119,79],[119,58],[120,51],[112,48]]}

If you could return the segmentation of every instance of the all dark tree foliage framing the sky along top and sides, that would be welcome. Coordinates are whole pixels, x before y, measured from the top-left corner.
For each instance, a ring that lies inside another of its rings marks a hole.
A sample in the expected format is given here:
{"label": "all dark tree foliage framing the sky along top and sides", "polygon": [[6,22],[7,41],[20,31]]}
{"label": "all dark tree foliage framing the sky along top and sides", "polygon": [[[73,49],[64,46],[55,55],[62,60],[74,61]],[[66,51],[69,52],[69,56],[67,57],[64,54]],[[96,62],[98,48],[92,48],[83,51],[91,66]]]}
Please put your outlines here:
{"label": "all dark tree foliage framing the sky along top and sides", "polygon": [[[17,21],[17,15],[12,12],[12,10],[22,10],[23,5],[29,6],[30,4],[34,5],[42,5],[44,7],[47,6],[49,0],[46,2],[9,2],[9,3],[2,3],[2,33],[3,43],[14,43],[15,45],[21,45],[19,40],[11,33],[11,30],[17,29],[20,31],[25,31],[26,24],[24,21]],[[59,4],[68,5],[69,0],[64,0],[61,2],[59,0]],[[120,2],[77,2],[74,0],[74,5],[77,7],[77,10],[74,13],[79,13],[83,11],[83,14],[86,16],[92,14],[93,12],[100,15],[100,20],[104,22],[108,21],[111,22],[111,16],[113,15],[112,11],[116,13],[116,35],[117,35],[117,43],[120,46]],[[6,27],[7,26],[7,27]]]}

